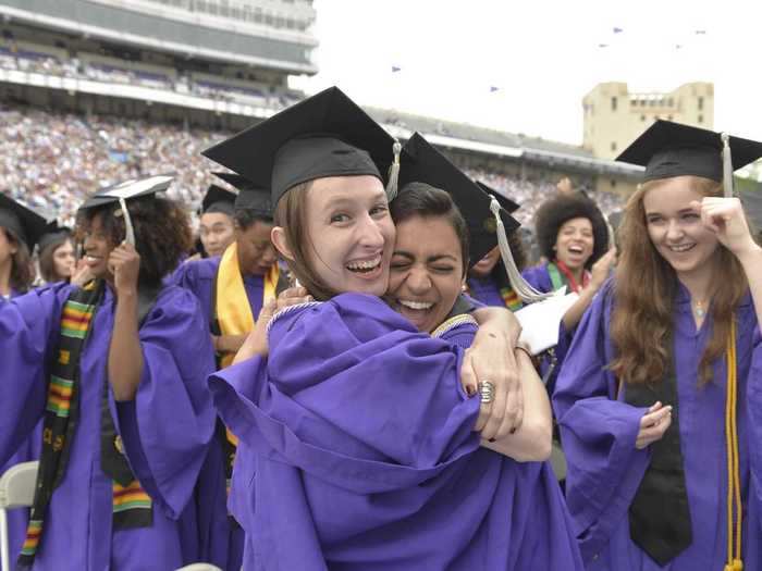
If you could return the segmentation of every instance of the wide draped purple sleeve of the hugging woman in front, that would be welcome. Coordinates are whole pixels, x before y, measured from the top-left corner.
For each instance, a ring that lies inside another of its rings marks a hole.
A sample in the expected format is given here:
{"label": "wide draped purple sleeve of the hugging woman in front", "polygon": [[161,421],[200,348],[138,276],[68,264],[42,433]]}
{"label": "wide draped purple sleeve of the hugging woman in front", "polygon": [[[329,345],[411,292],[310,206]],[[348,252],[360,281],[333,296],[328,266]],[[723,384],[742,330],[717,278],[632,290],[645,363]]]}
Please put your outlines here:
{"label": "wide draped purple sleeve of the hugging woman in front", "polygon": [[[269,443],[268,454],[365,492],[423,481],[476,449],[479,404],[460,387],[462,352],[378,298],[345,296],[273,322],[278,350],[267,363],[255,358],[210,378],[225,424],[254,447]],[[389,402],[391,414],[362,412]]]}

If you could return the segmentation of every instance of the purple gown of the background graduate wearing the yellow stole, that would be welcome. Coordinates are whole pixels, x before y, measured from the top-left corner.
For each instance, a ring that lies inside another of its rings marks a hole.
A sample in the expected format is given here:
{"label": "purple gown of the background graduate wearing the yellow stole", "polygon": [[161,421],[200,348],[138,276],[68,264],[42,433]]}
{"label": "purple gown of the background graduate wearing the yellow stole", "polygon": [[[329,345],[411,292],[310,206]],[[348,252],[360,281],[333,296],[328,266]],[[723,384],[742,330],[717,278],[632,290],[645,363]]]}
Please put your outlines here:
{"label": "purple gown of the background graduate wearing the yellow stole", "polygon": [[[216,256],[185,262],[169,278],[170,283],[192,291],[198,298],[207,324],[211,324],[213,310],[212,291],[220,260],[221,258]],[[251,307],[251,314],[256,320],[262,309],[262,299],[265,297],[263,276],[245,276],[244,289]],[[211,521],[211,535],[206,538],[206,543],[209,544],[209,549],[212,553],[211,562],[222,569],[235,571],[241,569],[243,560],[244,530],[236,527],[234,522],[231,524],[228,517],[229,507],[225,507],[226,482],[224,474],[220,476],[217,470],[217,463],[223,464],[224,459],[222,451],[219,450],[219,446],[217,448],[210,451],[201,471],[201,481],[199,482],[200,497],[206,501],[208,501],[210,496],[213,496],[216,499],[211,505],[200,505],[199,509],[204,514],[204,519]]]}

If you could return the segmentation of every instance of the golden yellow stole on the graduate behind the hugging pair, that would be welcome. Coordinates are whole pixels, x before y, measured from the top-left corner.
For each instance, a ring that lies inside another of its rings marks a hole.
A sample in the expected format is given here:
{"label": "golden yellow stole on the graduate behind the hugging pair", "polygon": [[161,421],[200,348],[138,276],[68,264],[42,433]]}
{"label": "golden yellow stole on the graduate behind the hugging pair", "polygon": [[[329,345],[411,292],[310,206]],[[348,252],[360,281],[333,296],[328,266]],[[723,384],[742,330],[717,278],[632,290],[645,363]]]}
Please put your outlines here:
{"label": "golden yellow stole on the graduate behind the hugging pair", "polygon": [[[280,270],[272,264],[265,276],[262,306],[278,295]],[[225,249],[217,269],[212,288],[212,323],[214,335],[244,335],[254,330],[254,314],[244,287],[244,278],[238,265],[238,245],[234,241]],[[225,353],[218,359],[218,368],[230,367],[235,355]],[[238,438],[226,427],[218,425],[217,433],[225,458],[225,476],[230,487]]]}

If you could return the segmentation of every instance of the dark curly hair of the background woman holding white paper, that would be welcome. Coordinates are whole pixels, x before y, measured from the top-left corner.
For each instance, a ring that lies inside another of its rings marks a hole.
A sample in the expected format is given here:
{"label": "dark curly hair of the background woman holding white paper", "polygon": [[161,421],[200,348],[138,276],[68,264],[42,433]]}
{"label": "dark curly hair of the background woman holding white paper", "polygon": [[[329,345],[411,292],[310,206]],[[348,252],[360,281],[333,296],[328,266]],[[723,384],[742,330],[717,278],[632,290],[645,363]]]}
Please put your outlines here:
{"label": "dark curly hair of the background woman holding white paper", "polygon": [[534,214],[534,228],[540,251],[548,260],[555,259],[553,247],[558,239],[558,231],[572,219],[588,219],[592,225],[592,256],[585,263],[590,266],[609,250],[609,228],[595,202],[583,195],[555,195],[545,200]]}

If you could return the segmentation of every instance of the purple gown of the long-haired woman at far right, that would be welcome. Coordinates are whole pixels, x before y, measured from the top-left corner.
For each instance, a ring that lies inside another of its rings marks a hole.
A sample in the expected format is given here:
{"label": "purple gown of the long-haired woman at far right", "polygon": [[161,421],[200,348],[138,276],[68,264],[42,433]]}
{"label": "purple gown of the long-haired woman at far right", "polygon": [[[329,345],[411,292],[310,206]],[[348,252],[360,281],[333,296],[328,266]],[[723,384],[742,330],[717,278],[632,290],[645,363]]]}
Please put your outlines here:
{"label": "purple gown of the long-haired woman at far right", "polygon": [[[603,293],[603,290],[602,290]],[[714,365],[698,387],[698,365],[711,337],[711,315],[700,331],[680,286],[674,318],[680,448],[693,541],[659,567],[629,535],[629,505],[649,464],[635,440],[644,408],[617,399],[617,381],[604,367],[614,357],[609,333],[614,295],[600,295],[580,322],[558,377],[553,405],[568,461],[566,498],[589,570],[721,570],[727,557],[725,387],[727,370]],[[736,312],[738,438],[746,571],[762,570],[762,339],[751,297]]]}

